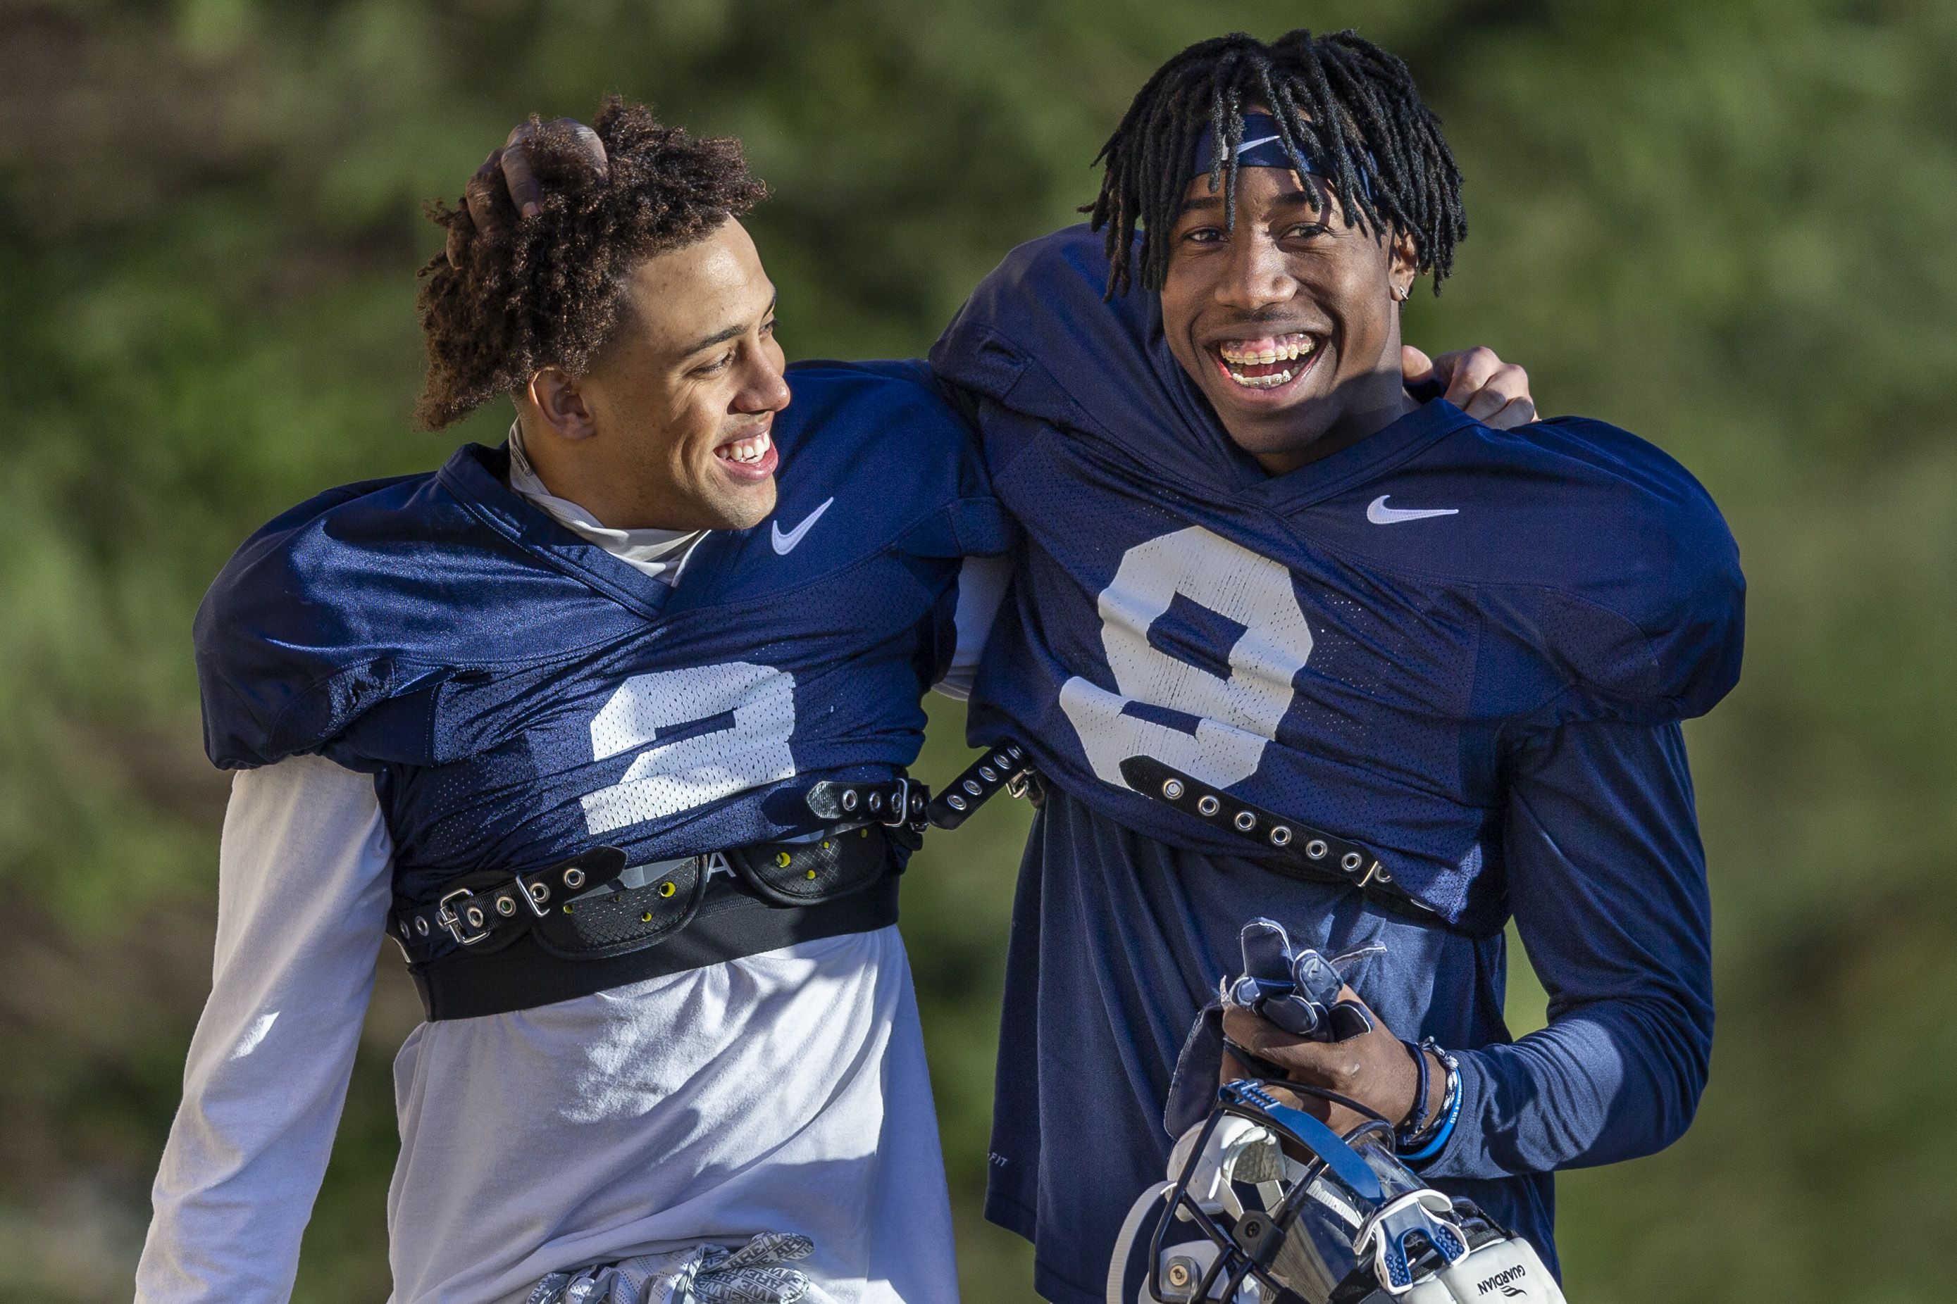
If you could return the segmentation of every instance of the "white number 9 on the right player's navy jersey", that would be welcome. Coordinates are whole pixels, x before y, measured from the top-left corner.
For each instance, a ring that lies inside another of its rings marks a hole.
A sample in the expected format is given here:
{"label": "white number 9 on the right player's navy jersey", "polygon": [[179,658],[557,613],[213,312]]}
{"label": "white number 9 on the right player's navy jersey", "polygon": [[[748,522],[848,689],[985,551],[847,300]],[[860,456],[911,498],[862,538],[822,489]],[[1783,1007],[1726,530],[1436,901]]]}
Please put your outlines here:
{"label": "white number 9 on the right player's navy jersey", "polygon": [[[1243,630],[1227,649],[1209,649],[1227,674],[1149,641],[1176,596]],[[1125,788],[1121,761],[1141,755],[1217,788],[1251,778],[1292,708],[1292,676],[1311,655],[1292,573],[1190,526],[1129,547],[1098,606],[1115,692],[1078,674],[1061,684],[1061,710],[1094,774]],[[1131,704],[1172,712],[1194,733],[1123,710]]]}

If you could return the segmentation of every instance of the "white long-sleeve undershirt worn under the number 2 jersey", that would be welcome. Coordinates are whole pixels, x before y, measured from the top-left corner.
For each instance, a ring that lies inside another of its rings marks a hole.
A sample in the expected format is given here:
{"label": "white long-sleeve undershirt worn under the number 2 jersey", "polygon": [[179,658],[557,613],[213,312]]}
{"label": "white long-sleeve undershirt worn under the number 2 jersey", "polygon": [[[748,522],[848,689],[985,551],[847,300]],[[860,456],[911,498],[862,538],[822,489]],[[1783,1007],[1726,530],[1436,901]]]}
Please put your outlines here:
{"label": "white long-sleeve undershirt worn under the number 2 jersey", "polygon": [[[566,524],[607,547],[646,542]],[[986,571],[988,592],[961,590],[965,684],[984,641],[971,622],[990,624],[1004,592],[1002,567]],[[391,856],[370,776],[319,757],[235,776],[211,995],[157,1175],[139,1304],[288,1300],[372,993]],[[401,1304],[515,1302],[550,1271],[759,1232],[814,1239],[814,1304],[957,1298],[896,929],[421,1024],[395,1058],[395,1107]]]}

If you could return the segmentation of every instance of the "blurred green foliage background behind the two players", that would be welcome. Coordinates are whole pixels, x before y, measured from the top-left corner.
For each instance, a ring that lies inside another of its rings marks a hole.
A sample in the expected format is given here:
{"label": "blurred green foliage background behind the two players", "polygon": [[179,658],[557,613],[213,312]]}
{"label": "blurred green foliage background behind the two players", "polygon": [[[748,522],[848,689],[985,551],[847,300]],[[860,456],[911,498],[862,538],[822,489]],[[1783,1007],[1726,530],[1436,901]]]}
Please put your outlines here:
{"label": "blurred green foliage background behind the two players", "polygon": [[[1937,0],[0,0],[0,1300],[129,1296],[209,981],[190,618],[264,518],[436,465],[419,201],[618,90],[748,143],[791,356],[922,352],[1225,29],[1356,23],[1474,239],[1409,338],[1693,467],[1752,581],[1691,727],[1720,1034],[1667,1153],[1562,1181],[1577,1304],[1947,1300],[1957,1232],[1957,6]],[[464,438],[495,442],[505,416]],[[935,712],[930,776],[963,757]],[[1024,811],[906,888],[967,1298]],[[297,1298],[386,1294],[391,954]],[[1517,1030],[1542,1019],[1525,981]]]}

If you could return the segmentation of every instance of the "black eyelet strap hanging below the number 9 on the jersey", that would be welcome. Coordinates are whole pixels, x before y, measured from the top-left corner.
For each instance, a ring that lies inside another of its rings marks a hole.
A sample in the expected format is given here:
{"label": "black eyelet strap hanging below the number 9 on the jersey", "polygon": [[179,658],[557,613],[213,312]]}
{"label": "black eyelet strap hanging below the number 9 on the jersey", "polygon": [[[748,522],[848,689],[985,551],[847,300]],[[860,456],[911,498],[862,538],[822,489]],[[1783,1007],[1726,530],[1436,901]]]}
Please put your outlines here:
{"label": "black eyelet strap hanging below the number 9 on the jersey", "polygon": [[1292,878],[1344,882],[1368,897],[1401,911],[1433,915],[1429,905],[1393,882],[1380,858],[1366,847],[1307,823],[1286,819],[1262,805],[1233,798],[1221,788],[1190,778],[1155,757],[1129,757],[1121,778],[1135,792],[1174,805],[1211,829],[1249,843],[1243,854]]}

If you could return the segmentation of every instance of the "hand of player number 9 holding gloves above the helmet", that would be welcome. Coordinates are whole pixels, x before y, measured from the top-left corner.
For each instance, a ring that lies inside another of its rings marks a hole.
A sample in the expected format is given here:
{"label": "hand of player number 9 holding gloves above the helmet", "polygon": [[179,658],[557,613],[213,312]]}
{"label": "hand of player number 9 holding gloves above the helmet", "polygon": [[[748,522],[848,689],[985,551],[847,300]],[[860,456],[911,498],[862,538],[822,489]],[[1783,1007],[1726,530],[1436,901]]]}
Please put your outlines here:
{"label": "hand of player number 9 holding gloves above the helmet", "polygon": [[[1258,1073],[1231,1054],[1231,1044],[1243,1046],[1252,1056],[1284,1069],[1288,1079],[1337,1091],[1378,1110],[1388,1122],[1397,1126],[1415,1108],[1413,1097],[1421,1087],[1421,1073],[1401,1040],[1393,1036],[1391,1028],[1380,1022],[1378,1015],[1366,1009],[1366,1003],[1358,999],[1358,993],[1350,985],[1341,987],[1339,1001],[1350,1001],[1366,1011],[1366,1021],[1372,1026],[1339,1042],[1313,1042],[1296,1032],[1286,1032],[1251,1009],[1225,1003],[1223,1081],[1235,1077],[1262,1077],[1266,1083],[1270,1081],[1266,1077],[1268,1069],[1266,1073]],[[1296,1103],[1305,1112],[1323,1118],[1341,1136],[1364,1122],[1360,1114],[1305,1093],[1297,1093]]]}

